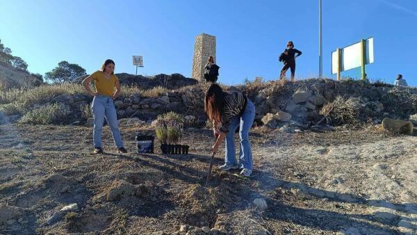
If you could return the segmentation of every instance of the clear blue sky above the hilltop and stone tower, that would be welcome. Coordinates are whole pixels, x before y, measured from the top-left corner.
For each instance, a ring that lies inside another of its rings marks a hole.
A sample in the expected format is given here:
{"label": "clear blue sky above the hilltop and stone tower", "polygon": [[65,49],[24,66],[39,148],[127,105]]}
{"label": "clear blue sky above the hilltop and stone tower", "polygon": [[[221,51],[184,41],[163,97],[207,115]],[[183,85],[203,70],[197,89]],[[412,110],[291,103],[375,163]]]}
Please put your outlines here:
{"label": "clear blue sky above the hilltop and stone tower", "polygon": [[[106,58],[116,72],[135,73],[132,55],[142,55],[140,74],[190,76],[195,36],[217,37],[219,81],[277,79],[278,56],[288,40],[303,55],[296,76],[318,74],[318,1],[21,1],[0,0],[0,39],[28,70],[44,74],[61,60],[88,73]],[[417,86],[416,0],[323,0],[323,73],[331,52],[361,38],[375,38],[368,77],[392,83],[396,74]],[[360,70],[342,76],[359,77]]]}

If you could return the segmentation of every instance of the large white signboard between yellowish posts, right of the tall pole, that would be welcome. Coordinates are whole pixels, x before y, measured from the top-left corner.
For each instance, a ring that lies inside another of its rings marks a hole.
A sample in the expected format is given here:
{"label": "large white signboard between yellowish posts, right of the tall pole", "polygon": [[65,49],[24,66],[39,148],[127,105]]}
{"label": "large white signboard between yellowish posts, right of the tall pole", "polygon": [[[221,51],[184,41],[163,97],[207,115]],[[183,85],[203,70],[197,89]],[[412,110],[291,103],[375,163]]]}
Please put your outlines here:
{"label": "large white signboard between yellowish posts, right of the tall pole", "polygon": [[[363,56],[363,61],[362,61]],[[332,52],[332,74],[374,63],[373,38]]]}

